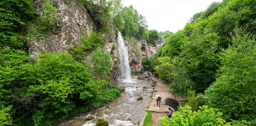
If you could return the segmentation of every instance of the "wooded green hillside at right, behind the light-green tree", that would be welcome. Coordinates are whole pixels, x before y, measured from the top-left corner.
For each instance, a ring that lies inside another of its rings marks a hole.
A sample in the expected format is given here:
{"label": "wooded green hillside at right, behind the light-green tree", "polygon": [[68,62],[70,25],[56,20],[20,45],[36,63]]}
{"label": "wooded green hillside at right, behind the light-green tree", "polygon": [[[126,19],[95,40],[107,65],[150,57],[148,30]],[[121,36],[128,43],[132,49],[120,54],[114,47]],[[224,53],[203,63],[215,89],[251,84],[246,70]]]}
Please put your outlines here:
{"label": "wooded green hillside at right, behind the light-green tree", "polygon": [[[222,49],[227,49],[228,44],[232,44],[229,40],[234,28],[243,26],[246,27],[246,32],[250,31],[254,34],[254,26],[248,27],[255,19],[252,16],[256,9],[254,5],[255,1],[249,0],[212,3],[204,12],[196,13],[182,31],[167,38],[156,56],[169,58],[166,64],[170,65],[165,66],[170,69],[170,74],[164,74],[162,78],[177,82],[171,90],[180,90],[179,87],[184,87],[182,91],[186,92],[191,85],[193,90],[199,93],[204,92],[212,82],[216,81],[217,70],[221,65],[220,52]],[[234,16],[230,15],[231,13],[234,13]],[[237,15],[243,17],[238,18]],[[230,19],[227,19],[228,17]],[[158,61],[157,66],[164,66],[164,62]],[[163,74],[157,66],[156,72],[159,75]],[[179,71],[179,67],[182,67],[183,72]],[[178,71],[175,70],[176,68]],[[184,79],[177,79],[180,76],[188,78],[190,83],[183,85]],[[177,92],[177,95],[186,94]]]}

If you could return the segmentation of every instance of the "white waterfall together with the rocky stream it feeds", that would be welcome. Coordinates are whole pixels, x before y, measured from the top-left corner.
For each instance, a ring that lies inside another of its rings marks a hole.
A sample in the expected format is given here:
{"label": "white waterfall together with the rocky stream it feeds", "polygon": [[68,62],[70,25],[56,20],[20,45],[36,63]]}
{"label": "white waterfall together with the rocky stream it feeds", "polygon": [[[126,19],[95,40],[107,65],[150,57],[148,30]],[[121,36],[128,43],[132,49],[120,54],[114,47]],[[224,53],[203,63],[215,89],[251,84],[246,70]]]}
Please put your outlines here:
{"label": "white waterfall together with the rocky stream it feeds", "polygon": [[[148,106],[150,92],[153,89],[150,82],[134,79],[138,76],[131,77],[128,52],[125,49],[124,39],[120,32],[118,32],[118,55],[120,77],[124,80],[118,81],[116,85],[125,86],[121,97],[115,98],[112,102],[90,113],[80,114],[56,125],[94,126],[97,118],[104,118],[104,120],[109,122],[109,126],[138,126],[138,123],[147,113],[144,109]],[[143,99],[137,100],[138,97],[143,97]],[[86,121],[85,118],[88,116],[94,116],[95,118]]]}

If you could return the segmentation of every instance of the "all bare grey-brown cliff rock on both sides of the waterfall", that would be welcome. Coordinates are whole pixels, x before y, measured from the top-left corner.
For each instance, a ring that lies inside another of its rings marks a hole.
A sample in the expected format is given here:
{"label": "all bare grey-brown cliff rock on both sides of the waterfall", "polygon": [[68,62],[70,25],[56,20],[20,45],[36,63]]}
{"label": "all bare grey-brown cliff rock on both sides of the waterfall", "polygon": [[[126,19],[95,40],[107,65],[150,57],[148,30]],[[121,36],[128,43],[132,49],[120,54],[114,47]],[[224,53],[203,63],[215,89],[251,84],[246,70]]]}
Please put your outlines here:
{"label": "all bare grey-brown cliff rock on both sides of the waterfall", "polygon": [[[90,35],[95,28],[92,17],[87,13],[86,8],[74,1],[67,0],[50,0],[57,9],[60,21],[56,24],[58,30],[47,38],[29,38],[29,56],[38,56],[45,51],[51,52],[68,52],[70,47],[81,43],[81,32],[84,31]],[[38,13],[42,15],[43,0],[35,0]],[[114,28],[115,29],[115,28]],[[111,74],[111,81],[114,83],[118,76],[118,53],[116,45],[116,35],[103,34],[106,38],[106,51],[113,55],[114,65]],[[125,46],[129,52],[129,62],[132,72],[143,70],[142,58],[154,56],[156,47],[147,45],[145,40],[136,40],[131,38],[125,41]],[[90,65],[90,55],[87,57]]]}

